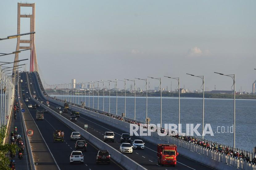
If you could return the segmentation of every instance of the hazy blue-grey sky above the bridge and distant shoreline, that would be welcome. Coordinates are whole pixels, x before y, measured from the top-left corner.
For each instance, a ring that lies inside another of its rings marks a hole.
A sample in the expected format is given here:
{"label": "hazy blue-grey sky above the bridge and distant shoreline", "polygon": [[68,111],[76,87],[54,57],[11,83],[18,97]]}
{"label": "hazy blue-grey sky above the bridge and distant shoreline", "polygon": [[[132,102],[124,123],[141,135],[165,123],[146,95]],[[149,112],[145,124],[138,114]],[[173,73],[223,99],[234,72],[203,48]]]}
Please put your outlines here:
{"label": "hazy blue-grey sky above the bridge and distant shoreline", "polygon": [[[17,34],[17,3],[0,1],[0,38]],[[35,7],[38,65],[48,84],[180,77],[180,87],[252,91],[256,79],[256,1],[30,1]],[[23,2],[24,3],[24,2]],[[21,14],[32,9],[22,7]],[[29,31],[21,19],[21,33]],[[23,36],[23,39],[29,37]],[[21,38],[21,39],[22,39]],[[0,41],[0,53],[16,50],[16,39]],[[20,59],[30,58],[29,51]],[[14,55],[1,61],[13,61]],[[29,61],[26,69],[29,70]],[[150,88],[159,85],[150,79]],[[177,82],[172,80],[172,89]],[[114,84],[112,84],[114,88]],[[144,81],[136,81],[144,88]],[[162,78],[162,87],[171,79]],[[127,82],[127,88],[130,83]],[[122,82],[118,88],[123,88]]]}

